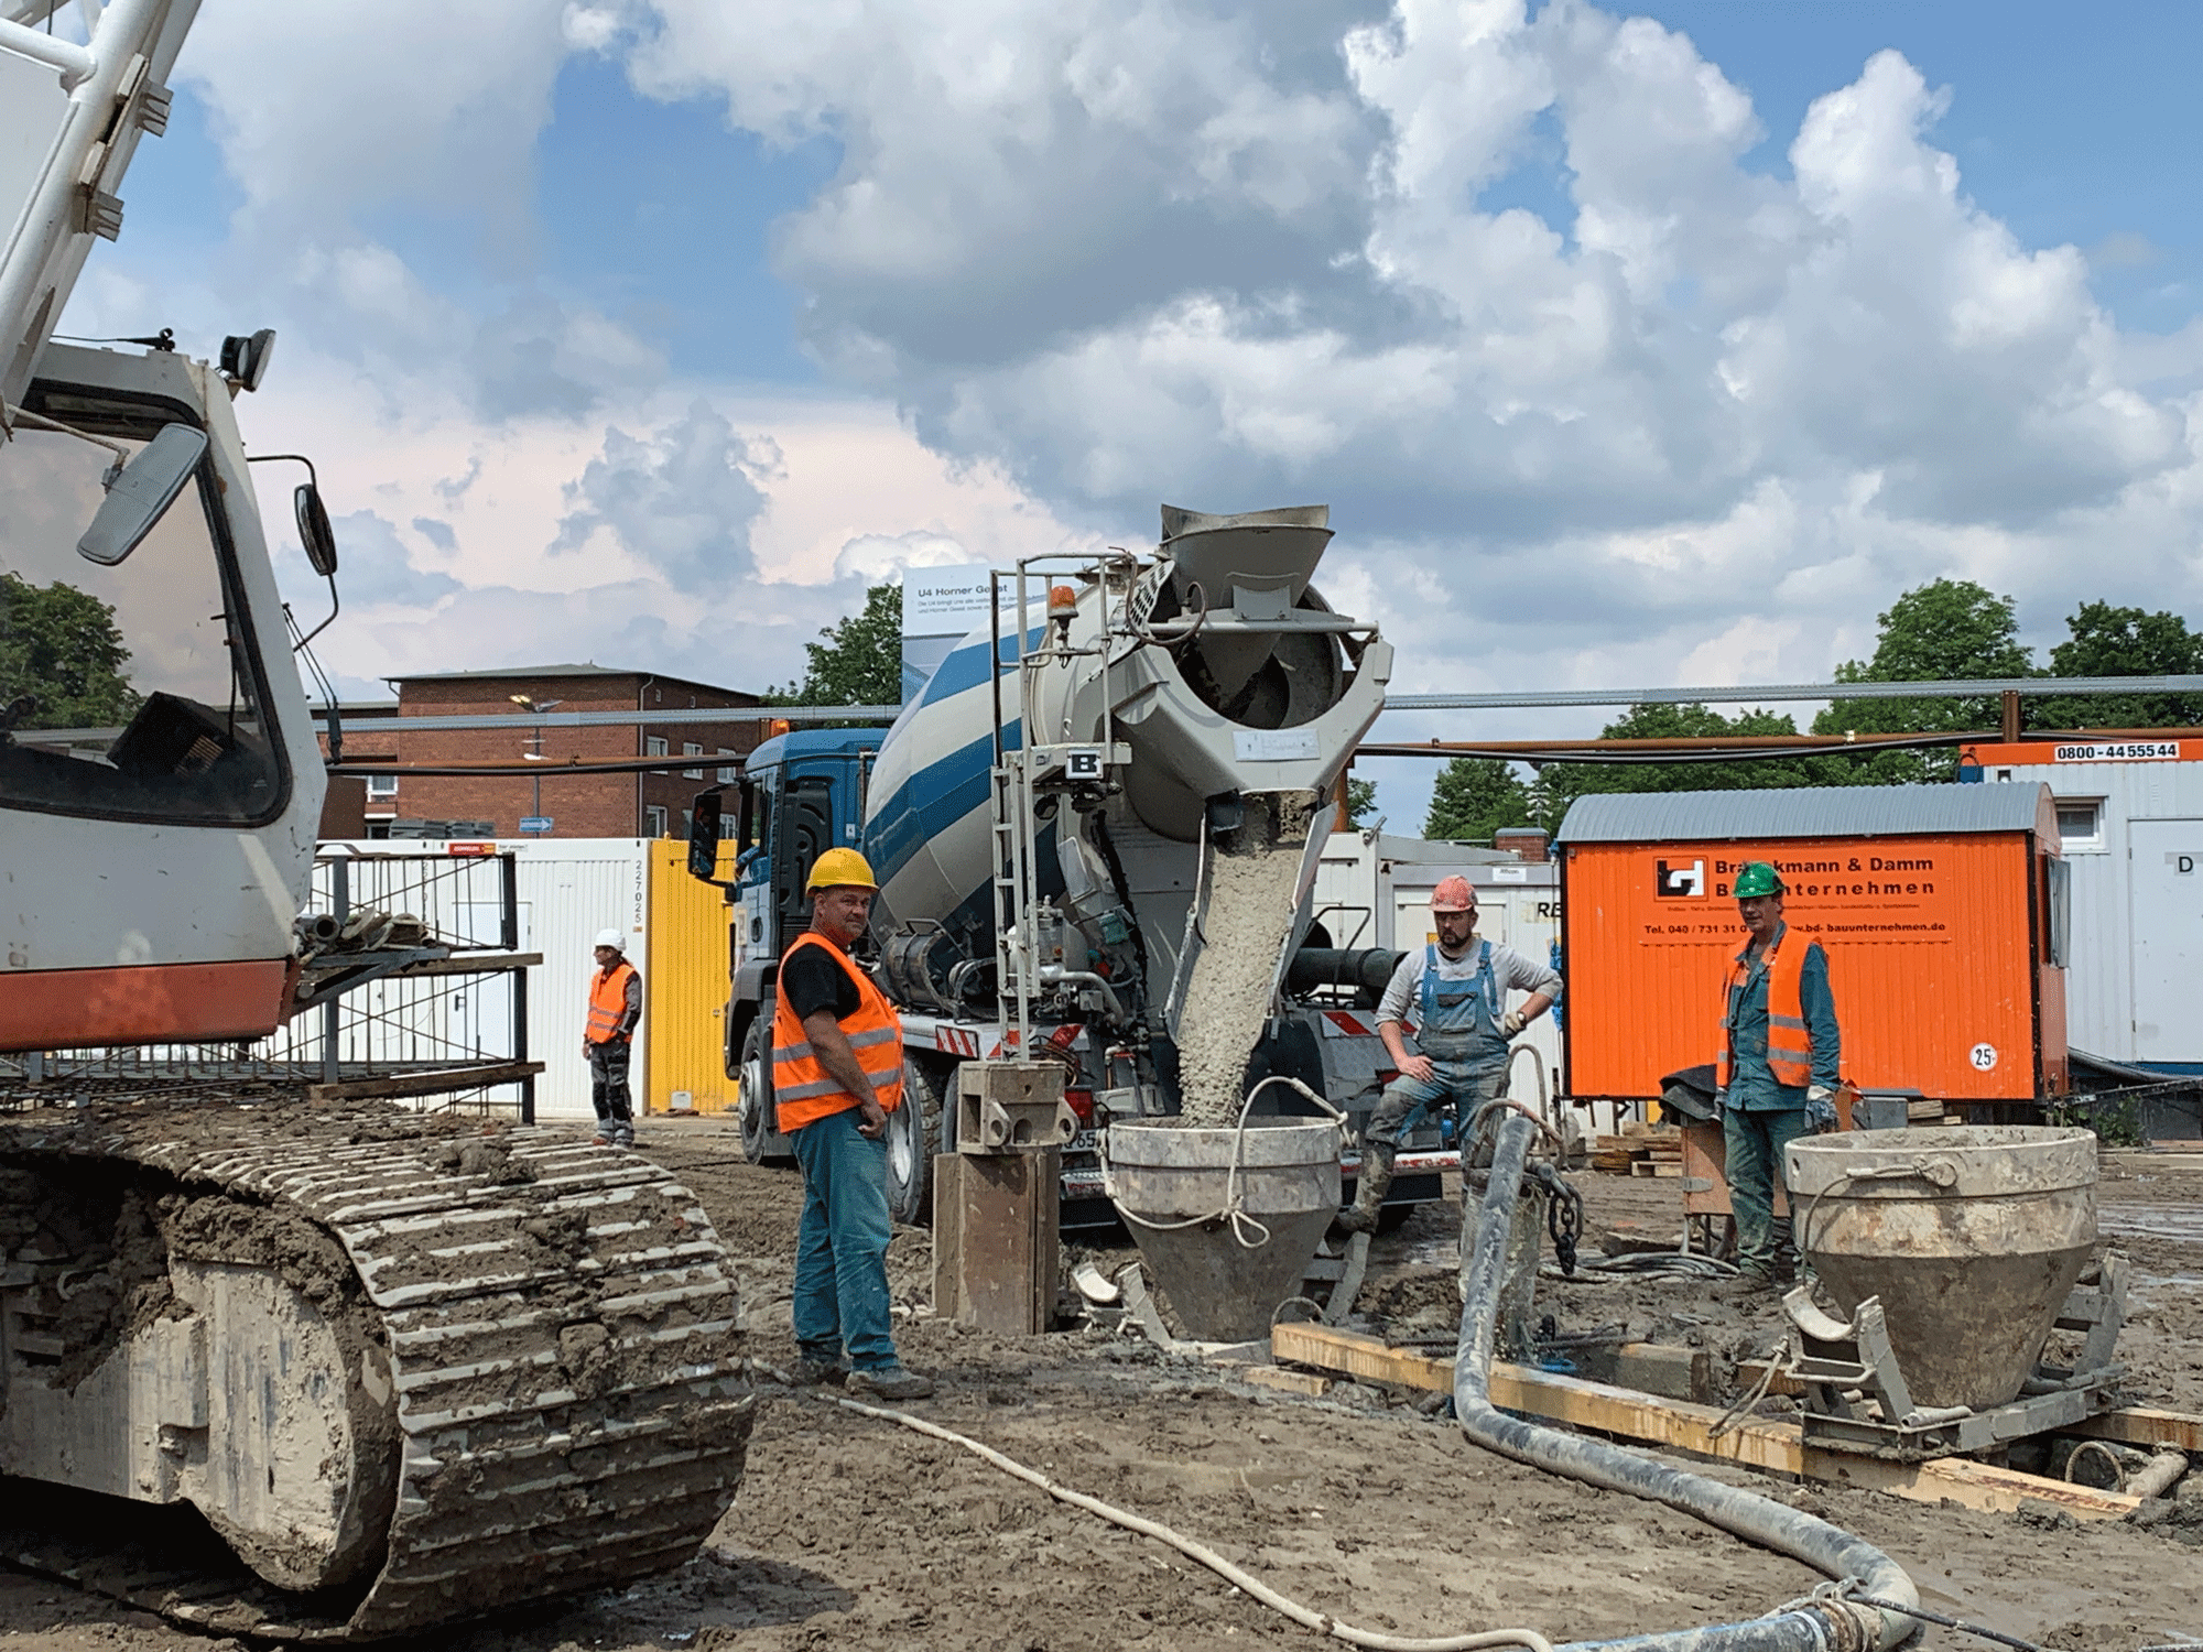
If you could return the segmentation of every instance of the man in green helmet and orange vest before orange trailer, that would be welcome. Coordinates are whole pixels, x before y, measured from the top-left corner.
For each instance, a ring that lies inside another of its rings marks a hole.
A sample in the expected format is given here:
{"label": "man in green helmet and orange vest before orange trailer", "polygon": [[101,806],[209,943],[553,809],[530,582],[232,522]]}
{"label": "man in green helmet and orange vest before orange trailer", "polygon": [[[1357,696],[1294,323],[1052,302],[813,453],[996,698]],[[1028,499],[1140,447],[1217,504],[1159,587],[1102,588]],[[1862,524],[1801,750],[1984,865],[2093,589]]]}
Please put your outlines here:
{"label": "man in green helmet and orange vest before orange trailer", "polygon": [[1789,1218],[1776,1218],[1776,1181],[1789,1143],[1835,1130],[1842,1035],[1828,954],[1789,932],[1782,874],[1773,866],[1749,861],[1736,874],[1736,914],[1749,941],[1729,960],[1714,1090],[1740,1291],[1754,1293],[1798,1275]]}

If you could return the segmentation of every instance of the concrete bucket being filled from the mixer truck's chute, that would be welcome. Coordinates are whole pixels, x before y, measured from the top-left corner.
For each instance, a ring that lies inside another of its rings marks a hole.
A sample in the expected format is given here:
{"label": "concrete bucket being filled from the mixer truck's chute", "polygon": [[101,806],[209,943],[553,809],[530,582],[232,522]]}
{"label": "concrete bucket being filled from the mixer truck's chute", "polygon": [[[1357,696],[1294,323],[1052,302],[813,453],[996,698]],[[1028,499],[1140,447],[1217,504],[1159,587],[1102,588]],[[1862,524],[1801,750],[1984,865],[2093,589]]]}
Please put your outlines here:
{"label": "concrete bucket being filled from the mixer truck's chute", "polygon": [[1267,1337],[1339,1214],[1335,1123],[1247,1119],[1240,1137],[1141,1121],[1113,1123],[1102,1143],[1110,1198],[1196,1341]]}

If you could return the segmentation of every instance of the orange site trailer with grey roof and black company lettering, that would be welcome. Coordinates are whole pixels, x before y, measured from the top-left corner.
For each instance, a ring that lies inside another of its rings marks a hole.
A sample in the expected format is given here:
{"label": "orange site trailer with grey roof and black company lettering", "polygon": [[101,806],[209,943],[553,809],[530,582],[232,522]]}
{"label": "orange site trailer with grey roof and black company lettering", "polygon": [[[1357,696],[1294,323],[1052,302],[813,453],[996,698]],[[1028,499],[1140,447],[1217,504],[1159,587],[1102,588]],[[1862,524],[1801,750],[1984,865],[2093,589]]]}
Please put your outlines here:
{"label": "orange site trailer with grey roof and black company lettering", "polygon": [[1712,1062],[1747,936],[1729,885],[1771,861],[1828,954],[1844,1077],[1941,1101],[2066,1090],[2066,879],[2049,786],[1806,786],[1582,797],[1558,835],[1564,1086],[1652,1099]]}

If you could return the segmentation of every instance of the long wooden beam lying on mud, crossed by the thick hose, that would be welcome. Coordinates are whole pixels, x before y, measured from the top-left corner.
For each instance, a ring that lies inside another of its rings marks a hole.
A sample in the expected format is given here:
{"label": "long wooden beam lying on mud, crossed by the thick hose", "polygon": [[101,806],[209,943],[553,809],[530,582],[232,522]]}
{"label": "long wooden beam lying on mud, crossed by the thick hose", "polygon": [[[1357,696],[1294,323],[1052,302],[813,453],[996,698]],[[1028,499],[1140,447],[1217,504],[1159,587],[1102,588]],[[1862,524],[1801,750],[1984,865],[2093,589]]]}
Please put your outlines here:
{"label": "long wooden beam lying on mud, crossed by the thick hose", "polygon": [[[1333,1330],[1317,1324],[1271,1326],[1271,1352],[1280,1361],[1337,1370],[1348,1377],[1403,1388],[1452,1392],[1454,1361],[1428,1359],[1403,1348],[1388,1348],[1377,1337]],[[1798,1423],[1747,1416],[1729,1432],[1714,1436],[1721,1410],[1687,1401],[1657,1399],[1628,1388],[1586,1383],[1580,1377],[1558,1377],[1529,1366],[1496,1363],[1491,1368],[1491,1403],[1507,1412],[1549,1423],[1613,1434],[1639,1445],[1703,1456],[1716,1463],[1740,1463],[1765,1474],[1787,1474],[1824,1485],[1848,1485],[1888,1491],[1912,1502],[1950,1498],[1967,1509],[2014,1513],[2022,1502],[2049,1502],[2077,1520],[2117,1520],[2141,1504],[2117,1491],[2093,1491],[2044,1480],[2036,1474],[1998,1469],[1972,1458],[1934,1458],[1932,1463],[1881,1463],[1848,1452],[1824,1452],[1804,1443]]]}

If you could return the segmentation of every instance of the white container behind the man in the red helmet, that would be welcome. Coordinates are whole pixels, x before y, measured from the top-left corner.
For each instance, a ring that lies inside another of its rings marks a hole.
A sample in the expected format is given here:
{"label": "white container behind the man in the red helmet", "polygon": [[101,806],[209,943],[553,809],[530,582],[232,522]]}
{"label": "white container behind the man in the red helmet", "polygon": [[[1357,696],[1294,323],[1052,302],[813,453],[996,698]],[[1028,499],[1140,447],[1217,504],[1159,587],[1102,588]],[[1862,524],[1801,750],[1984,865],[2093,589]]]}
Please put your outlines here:
{"label": "white container behind the man in the red helmet", "polygon": [[[1478,936],[1531,963],[1551,960],[1560,941],[1560,868],[1472,844],[1333,833],[1315,868],[1315,919],[1339,947],[1423,947],[1439,938],[1430,925],[1430,892],[1441,877],[1456,874],[1476,890]],[[1516,1040],[1544,1059],[1547,1084],[1560,1082],[1562,1037],[1562,1026],[1540,1015]],[[1529,1088],[1529,1059],[1522,1057],[1516,1095],[1531,1099]]]}

